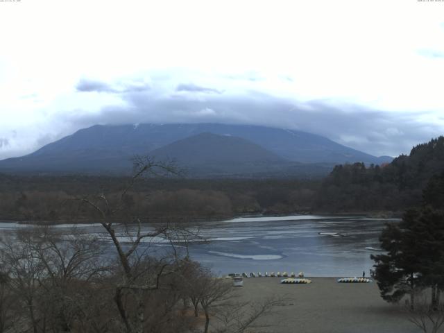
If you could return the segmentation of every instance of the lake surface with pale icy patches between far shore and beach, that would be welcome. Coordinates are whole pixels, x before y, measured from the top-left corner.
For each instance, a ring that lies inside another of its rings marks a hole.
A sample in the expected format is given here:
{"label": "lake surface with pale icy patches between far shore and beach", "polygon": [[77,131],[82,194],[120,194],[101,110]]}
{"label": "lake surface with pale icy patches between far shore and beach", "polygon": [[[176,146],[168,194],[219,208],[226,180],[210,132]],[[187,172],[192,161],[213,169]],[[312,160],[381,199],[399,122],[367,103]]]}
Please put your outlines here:
{"label": "lake surface with pale icy patches between far shore and beach", "polygon": [[[360,276],[366,271],[368,275],[373,265],[370,254],[380,253],[379,234],[391,221],[397,220],[299,215],[207,222],[200,225],[199,233],[210,241],[189,242],[189,255],[220,274],[304,271],[307,276]],[[71,227],[58,226],[59,230]],[[0,223],[1,234],[17,228],[26,225]],[[77,228],[109,241],[98,223]],[[121,241],[129,240],[120,232]],[[142,246],[162,252],[169,241],[155,237],[145,239]]]}

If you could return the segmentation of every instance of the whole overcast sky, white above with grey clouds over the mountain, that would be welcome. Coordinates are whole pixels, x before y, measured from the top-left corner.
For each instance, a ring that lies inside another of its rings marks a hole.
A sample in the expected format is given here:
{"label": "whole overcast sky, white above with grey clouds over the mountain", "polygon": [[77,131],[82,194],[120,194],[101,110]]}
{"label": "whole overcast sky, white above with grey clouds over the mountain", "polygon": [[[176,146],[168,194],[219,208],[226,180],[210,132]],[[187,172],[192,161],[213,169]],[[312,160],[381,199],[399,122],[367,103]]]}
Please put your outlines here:
{"label": "whole overcast sky, white above with grey clouds over the mountain", "polygon": [[444,1],[0,1],[0,159],[96,123],[444,134]]}

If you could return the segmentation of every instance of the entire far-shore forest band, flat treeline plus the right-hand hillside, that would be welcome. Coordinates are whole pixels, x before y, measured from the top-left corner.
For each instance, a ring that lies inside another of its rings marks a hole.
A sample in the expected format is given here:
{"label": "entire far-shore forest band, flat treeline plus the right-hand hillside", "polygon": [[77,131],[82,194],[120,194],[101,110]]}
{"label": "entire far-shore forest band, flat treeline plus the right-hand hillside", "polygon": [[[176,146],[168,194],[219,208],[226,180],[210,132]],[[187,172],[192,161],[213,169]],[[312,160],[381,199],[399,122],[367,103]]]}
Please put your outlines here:
{"label": "entire far-shore forest band, flat treeline plus the right-hand hillside", "polygon": [[[444,137],[382,166],[334,168],[323,180],[148,178],[137,182],[116,216],[147,221],[225,219],[241,214],[401,212],[420,205],[422,190],[444,172]],[[0,219],[91,221],[80,198],[117,200],[130,178],[0,175]]]}

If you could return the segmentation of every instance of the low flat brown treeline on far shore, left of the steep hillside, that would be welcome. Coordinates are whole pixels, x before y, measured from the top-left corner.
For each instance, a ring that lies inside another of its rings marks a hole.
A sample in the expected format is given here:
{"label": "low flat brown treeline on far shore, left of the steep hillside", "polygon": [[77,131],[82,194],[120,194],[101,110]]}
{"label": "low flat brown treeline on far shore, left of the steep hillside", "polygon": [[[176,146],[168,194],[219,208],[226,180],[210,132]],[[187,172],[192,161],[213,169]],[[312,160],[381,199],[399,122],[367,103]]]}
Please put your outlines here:
{"label": "low flat brown treeline on far shore, left of the steep hillside", "polygon": [[[130,178],[1,175],[0,219],[91,221],[98,216],[80,199],[105,193],[108,200],[117,200],[128,182]],[[128,192],[116,218],[196,221],[301,212],[313,206],[318,186],[309,180],[146,179]]]}

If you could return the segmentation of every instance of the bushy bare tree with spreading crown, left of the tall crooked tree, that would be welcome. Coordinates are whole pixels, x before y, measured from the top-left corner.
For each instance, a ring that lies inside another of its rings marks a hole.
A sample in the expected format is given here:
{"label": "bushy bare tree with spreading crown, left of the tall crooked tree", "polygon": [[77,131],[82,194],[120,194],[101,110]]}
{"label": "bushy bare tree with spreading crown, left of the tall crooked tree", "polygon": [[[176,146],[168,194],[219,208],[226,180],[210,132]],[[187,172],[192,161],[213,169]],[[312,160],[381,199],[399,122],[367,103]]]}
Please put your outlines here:
{"label": "bushy bare tree with spreading crown, left of the tall crooked tree", "polygon": [[71,332],[82,315],[78,299],[87,282],[99,280],[109,267],[97,237],[82,234],[78,228],[60,231],[38,228],[33,232],[35,259],[45,270],[40,287],[44,291],[43,309],[54,332]]}

